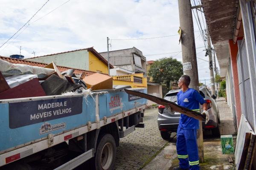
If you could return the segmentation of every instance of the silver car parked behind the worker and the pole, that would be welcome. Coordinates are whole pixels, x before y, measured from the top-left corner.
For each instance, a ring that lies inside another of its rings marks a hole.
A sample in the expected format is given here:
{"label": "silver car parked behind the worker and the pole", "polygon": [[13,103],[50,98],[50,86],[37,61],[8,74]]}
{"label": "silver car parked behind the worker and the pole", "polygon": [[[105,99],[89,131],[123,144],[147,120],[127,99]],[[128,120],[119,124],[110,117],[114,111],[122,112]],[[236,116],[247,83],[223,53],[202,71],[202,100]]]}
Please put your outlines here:
{"label": "silver car parked behind the worker and the pole", "polygon": [[[177,93],[179,91],[180,89],[169,91],[165,95],[164,99],[177,104]],[[220,117],[218,106],[215,102],[216,96],[211,96],[210,92],[205,86],[200,86],[199,91],[201,96],[203,96],[207,102],[209,112],[209,122],[206,125],[205,122],[202,122],[203,129],[211,129],[213,136],[220,136],[220,131],[218,128]],[[172,132],[177,132],[179,120],[180,113],[175,112],[172,114],[165,108],[165,106],[158,106],[157,124],[163,139],[168,140]]]}

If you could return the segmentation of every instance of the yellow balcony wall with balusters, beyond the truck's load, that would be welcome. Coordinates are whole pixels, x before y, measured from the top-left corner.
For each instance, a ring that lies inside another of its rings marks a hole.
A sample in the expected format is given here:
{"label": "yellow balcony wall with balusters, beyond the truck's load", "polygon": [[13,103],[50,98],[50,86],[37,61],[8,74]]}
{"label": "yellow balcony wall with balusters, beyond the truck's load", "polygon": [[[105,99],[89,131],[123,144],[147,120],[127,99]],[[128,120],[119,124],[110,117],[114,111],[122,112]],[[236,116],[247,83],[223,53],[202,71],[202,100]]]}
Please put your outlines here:
{"label": "yellow balcony wall with balusters, beyond the truck's load", "polygon": [[113,85],[130,85],[132,88],[147,88],[147,78],[143,73],[113,76]]}

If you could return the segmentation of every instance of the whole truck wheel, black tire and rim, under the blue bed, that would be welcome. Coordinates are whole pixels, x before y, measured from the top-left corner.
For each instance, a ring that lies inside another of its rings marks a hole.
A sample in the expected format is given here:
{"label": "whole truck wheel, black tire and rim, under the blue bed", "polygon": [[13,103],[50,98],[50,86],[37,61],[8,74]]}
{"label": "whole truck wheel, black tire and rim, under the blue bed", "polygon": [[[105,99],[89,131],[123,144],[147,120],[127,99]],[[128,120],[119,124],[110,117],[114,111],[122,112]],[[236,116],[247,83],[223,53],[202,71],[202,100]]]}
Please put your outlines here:
{"label": "whole truck wheel, black tire and rim, under the blue bed", "polygon": [[111,134],[102,135],[95,154],[96,170],[113,170],[116,161],[116,142]]}

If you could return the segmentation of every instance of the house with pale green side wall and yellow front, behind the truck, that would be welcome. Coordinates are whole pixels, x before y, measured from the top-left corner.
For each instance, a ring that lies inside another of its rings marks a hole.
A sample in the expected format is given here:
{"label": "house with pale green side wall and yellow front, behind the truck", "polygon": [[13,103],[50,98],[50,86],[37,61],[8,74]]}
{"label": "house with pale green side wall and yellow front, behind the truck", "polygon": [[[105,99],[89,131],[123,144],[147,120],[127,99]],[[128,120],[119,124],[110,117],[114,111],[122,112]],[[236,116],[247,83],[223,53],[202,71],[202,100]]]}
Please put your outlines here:
{"label": "house with pale green side wall and yellow front, behind the truck", "polygon": [[[76,68],[81,70],[95,71],[108,74],[108,61],[102,57],[93,47],[65,51],[56,54],[48,54],[26,59],[33,62],[49,64],[55,62],[56,65]],[[113,66],[110,64],[110,68]]]}

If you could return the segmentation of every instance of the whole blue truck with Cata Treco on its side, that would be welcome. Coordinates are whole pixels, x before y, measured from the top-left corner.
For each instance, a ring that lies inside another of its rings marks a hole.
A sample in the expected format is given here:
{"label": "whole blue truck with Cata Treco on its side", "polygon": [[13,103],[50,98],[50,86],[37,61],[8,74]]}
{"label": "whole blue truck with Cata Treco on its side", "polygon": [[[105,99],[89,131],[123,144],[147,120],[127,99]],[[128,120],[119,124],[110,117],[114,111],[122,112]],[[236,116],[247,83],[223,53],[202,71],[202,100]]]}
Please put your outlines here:
{"label": "whole blue truck with Cata Treco on its side", "polygon": [[0,100],[0,169],[113,169],[119,138],[144,127],[146,99],[124,89]]}

